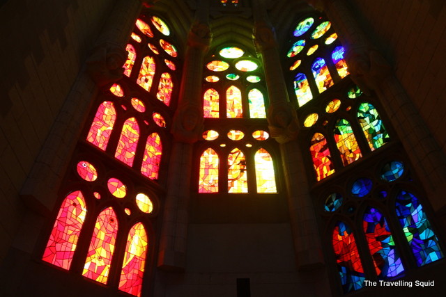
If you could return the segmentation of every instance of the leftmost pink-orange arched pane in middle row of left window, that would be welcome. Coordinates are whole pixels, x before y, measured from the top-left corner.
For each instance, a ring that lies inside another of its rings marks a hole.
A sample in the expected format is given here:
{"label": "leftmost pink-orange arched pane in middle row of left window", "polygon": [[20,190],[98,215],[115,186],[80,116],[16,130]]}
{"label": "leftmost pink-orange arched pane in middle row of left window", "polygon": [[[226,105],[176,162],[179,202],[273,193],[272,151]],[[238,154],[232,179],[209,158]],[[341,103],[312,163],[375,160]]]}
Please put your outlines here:
{"label": "leftmost pink-orange arched pane in middle row of left window", "polygon": [[113,131],[113,125],[116,121],[116,110],[112,102],[105,101],[100,104],[98,111],[96,111],[95,118],[91,123],[89,134],[86,136],[86,141],[93,143],[101,150],[107,148],[110,139],[110,134]]}

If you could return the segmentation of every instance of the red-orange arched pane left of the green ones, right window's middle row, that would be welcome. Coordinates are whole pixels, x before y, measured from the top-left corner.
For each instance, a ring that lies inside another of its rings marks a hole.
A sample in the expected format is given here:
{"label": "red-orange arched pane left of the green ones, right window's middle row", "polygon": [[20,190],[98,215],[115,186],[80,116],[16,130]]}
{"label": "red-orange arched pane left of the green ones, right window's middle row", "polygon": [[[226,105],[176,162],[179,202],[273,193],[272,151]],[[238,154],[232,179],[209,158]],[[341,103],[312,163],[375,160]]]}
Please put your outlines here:
{"label": "red-orange arched pane left of the green ones, right window's middle row", "polygon": [[327,139],[321,133],[315,133],[312,137],[309,151],[312,154],[313,166],[316,171],[316,179],[320,181],[334,172],[332,156],[328,148]]}

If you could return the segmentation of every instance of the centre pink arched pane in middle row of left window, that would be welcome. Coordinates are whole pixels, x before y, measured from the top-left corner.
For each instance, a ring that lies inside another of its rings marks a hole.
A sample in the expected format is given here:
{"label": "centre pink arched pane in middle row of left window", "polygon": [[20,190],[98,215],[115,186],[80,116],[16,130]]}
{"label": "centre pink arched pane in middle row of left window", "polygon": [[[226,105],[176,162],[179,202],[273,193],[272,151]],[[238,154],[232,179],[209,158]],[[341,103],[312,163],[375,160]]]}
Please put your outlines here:
{"label": "centre pink arched pane in middle row of left window", "polygon": [[137,151],[139,139],[139,126],[136,118],[125,120],[123,131],[116,147],[115,158],[128,166],[133,165],[134,154]]}

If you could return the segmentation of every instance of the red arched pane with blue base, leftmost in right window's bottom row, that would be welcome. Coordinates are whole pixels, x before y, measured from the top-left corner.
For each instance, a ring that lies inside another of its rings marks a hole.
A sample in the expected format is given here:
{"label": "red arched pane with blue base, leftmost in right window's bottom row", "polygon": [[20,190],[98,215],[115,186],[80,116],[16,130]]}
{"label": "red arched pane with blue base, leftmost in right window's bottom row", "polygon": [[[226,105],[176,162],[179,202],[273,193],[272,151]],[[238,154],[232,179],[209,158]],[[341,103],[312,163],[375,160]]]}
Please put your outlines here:
{"label": "red arched pane with blue base, leftmost in right window's bottom row", "polygon": [[365,280],[364,269],[355,236],[348,225],[338,222],[334,226],[332,245],[344,293],[361,289]]}

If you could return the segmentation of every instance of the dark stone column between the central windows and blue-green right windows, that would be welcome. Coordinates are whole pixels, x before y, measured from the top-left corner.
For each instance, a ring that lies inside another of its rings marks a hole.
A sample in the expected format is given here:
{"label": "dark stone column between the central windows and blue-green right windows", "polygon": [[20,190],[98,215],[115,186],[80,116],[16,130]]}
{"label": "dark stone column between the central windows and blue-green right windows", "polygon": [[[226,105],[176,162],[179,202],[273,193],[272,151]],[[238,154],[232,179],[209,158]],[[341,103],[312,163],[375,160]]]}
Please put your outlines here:
{"label": "dark stone column between the central windows and blue-green right windows", "polygon": [[296,141],[298,118],[289,103],[274,30],[266,19],[261,17],[263,13],[256,10],[256,15],[254,42],[262,56],[265,70],[270,100],[270,134],[280,143],[297,265],[300,270],[318,268],[323,264],[323,252],[302,152]]}

